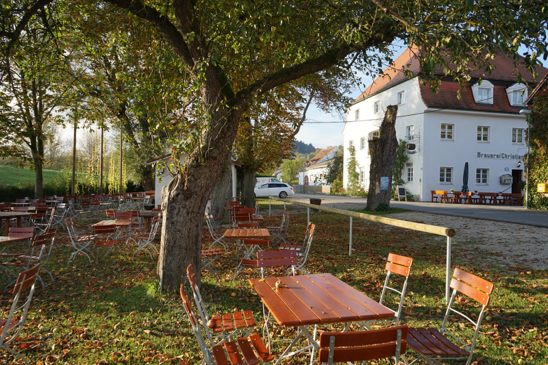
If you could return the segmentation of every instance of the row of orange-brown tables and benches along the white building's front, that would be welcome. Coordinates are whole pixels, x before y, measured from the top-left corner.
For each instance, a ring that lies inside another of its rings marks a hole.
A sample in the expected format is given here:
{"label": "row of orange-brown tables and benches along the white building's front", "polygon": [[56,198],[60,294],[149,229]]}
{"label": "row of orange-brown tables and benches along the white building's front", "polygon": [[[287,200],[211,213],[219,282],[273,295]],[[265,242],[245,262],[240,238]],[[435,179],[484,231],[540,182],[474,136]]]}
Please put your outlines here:
{"label": "row of orange-brown tables and benches along the white building's front", "polygon": [[523,205],[521,193],[430,190],[432,203]]}

